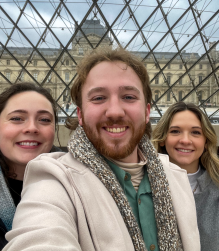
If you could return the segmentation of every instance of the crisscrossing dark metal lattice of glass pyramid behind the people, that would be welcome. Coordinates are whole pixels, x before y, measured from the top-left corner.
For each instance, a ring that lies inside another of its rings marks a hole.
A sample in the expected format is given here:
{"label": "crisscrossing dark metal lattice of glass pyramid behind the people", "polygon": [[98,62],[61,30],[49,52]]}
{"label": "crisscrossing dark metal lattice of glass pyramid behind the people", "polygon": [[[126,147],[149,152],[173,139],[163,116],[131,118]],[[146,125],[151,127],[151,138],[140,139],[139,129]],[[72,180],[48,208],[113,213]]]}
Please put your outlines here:
{"label": "crisscrossing dark metal lattice of glass pyramid behind the people", "polygon": [[65,105],[84,54],[121,46],[149,72],[154,121],[183,100],[219,123],[218,38],[218,0],[0,0],[0,91],[34,82],[72,115]]}

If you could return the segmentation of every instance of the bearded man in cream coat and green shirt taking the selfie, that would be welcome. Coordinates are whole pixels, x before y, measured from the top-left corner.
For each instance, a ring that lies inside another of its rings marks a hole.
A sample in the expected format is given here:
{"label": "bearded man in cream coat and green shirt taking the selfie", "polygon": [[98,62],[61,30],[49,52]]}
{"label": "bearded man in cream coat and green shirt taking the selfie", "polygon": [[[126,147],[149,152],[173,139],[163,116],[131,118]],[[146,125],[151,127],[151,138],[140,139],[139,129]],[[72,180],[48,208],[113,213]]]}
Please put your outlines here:
{"label": "bearded man in cream coat and green shirt taking the selfie", "polygon": [[149,140],[144,64],[122,49],[95,51],[71,96],[69,153],[28,164],[4,250],[200,250],[187,174]]}

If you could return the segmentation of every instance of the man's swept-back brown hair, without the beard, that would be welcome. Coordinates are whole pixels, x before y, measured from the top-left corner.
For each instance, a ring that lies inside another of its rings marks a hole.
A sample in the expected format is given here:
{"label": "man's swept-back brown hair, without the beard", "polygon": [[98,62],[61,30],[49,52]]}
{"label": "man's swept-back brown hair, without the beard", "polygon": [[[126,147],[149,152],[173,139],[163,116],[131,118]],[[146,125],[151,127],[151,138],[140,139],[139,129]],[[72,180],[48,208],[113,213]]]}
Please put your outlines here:
{"label": "man's swept-back brown hair, without the beard", "polygon": [[[73,103],[82,109],[82,87],[86,82],[90,70],[101,62],[115,62],[121,61],[127,66],[131,67],[141,80],[143,93],[145,98],[145,105],[151,104],[152,92],[150,88],[149,76],[147,70],[140,58],[134,54],[122,49],[97,49],[90,55],[86,55],[77,68],[77,77],[71,88],[71,98]],[[76,118],[68,118],[66,120],[66,127],[75,130],[78,125]],[[151,137],[151,123],[148,122],[145,133]]]}

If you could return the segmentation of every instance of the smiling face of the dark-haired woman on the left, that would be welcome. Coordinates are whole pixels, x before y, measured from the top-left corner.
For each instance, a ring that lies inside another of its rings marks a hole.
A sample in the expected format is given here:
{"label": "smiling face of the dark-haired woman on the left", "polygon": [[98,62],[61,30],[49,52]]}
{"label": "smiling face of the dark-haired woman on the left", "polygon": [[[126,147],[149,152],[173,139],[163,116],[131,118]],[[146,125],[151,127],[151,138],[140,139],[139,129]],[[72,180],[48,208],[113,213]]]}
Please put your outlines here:
{"label": "smiling face of the dark-haired woman on the left", "polygon": [[9,167],[26,166],[39,154],[48,153],[54,135],[52,105],[37,92],[12,96],[0,114],[0,150]]}

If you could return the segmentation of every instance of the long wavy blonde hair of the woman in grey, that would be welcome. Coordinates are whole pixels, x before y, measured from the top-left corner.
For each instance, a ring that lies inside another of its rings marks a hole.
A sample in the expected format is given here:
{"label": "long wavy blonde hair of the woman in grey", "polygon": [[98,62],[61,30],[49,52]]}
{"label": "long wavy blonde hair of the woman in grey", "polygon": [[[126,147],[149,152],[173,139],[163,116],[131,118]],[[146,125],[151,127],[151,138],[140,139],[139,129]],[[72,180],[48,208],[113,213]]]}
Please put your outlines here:
{"label": "long wavy blonde hair of the woman in grey", "polygon": [[158,153],[167,154],[165,146],[161,146],[167,138],[167,132],[173,116],[182,111],[191,111],[200,120],[202,131],[206,137],[205,151],[200,157],[200,163],[208,171],[211,179],[219,185],[219,159],[217,156],[217,136],[208,117],[192,103],[178,102],[171,105],[164,113],[152,133],[152,142]]}

